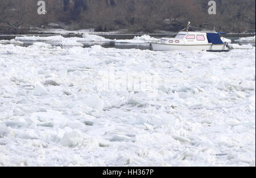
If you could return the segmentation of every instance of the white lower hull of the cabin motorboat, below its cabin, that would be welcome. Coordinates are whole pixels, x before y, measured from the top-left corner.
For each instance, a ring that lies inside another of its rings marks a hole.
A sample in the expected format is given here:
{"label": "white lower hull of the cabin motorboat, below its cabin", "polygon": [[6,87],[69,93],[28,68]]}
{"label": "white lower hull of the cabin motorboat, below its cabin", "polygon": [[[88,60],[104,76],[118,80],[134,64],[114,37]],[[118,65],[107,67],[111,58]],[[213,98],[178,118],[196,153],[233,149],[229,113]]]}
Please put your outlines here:
{"label": "white lower hull of the cabin motorboat, below its cabin", "polygon": [[222,52],[229,51],[225,44],[197,44],[197,45],[175,45],[151,43],[150,48],[153,51],[212,51]]}

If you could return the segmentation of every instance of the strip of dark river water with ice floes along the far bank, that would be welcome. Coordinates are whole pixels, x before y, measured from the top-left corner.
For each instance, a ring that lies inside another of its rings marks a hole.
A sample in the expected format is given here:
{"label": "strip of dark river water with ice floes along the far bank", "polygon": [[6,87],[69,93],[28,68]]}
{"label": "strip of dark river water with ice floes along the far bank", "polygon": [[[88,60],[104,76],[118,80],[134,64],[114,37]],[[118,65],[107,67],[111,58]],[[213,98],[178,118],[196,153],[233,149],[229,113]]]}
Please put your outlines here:
{"label": "strip of dark river water with ice floes along the far bank", "polygon": [[[63,39],[59,38],[60,34],[53,34],[54,36],[50,36],[49,34],[43,34],[43,35],[35,35],[35,36],[40,36],[40,38],[35,38],[33,35],[30,35],[30,38],[24,38],[24,35],[0,35],[0,43],[1,40],[11,40],[11,39],[19,39],[22,44],[15,44],[15,45],[21,45],[23,47],[27,47],[29,45],[32,45],[36,42],[42,42],[43,39],[48,39],[49,40],[43,40],[44,43],[51,44],[53,46],[63,46]],[[84,40],[82,39],[81,34],[61,34],[65,38],[68,36],[77,36],[80,37],[81,39],[79,40],[79,43],[83,44],[83,47],[91,47],[93,45],[101,45],[104,48],[118,48],[118,49],[150,49],[150,44],[145,42],[148,39],[148,36],[151,36],[151,39],[158,40],[162,37],[174,37],[176,33],[172,34],[101,34],[101,36],[98,35],[85,35],[85,36],[94,36],[94,38],[85,38]],[[255,47],[255,38],[252,41],[248,40],[240,40],[242,38],[251,38],[250,36],[253,36],[254,34],[227,34],[227,35],[222,35],[225,36],[225,39],[228,39],[230,43],[234,44],[240,44],[240,45],[246,45],[250,44]],[[147,36],[147,38],[143,38]],[[73,39],[79,39],[77,37],[73,37]],[[32,39],[32,40],[30,40]],[[72,39],[72,38],[69,38]],[[72,47],[73,44],[70,45],[64,45],[65,48]]]}

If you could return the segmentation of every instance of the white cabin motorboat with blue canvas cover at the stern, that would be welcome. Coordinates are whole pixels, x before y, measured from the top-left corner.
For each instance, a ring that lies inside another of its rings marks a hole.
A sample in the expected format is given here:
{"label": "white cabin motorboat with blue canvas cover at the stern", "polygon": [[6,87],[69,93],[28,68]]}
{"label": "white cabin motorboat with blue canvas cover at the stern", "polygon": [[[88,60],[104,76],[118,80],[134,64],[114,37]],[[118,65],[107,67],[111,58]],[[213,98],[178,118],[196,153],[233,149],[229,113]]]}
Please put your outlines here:
{"label": "white cabin motorboat with blue canvas cover at the stern", "polygon": [[[190,23],[189,23],[190,24]],[[175,38],[162,38],[159,42],[150,43],[153,51],[229,51],[227,43],[222,42],[216,31],[187,31],[179,32]]]}

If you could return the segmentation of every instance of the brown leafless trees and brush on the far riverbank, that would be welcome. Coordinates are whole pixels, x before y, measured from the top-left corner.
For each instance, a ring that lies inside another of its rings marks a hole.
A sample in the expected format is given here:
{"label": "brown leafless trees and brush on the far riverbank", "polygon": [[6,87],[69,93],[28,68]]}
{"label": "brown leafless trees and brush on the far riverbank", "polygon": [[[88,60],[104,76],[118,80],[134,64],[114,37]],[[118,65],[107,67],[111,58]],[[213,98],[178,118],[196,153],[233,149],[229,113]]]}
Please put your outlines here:
{"label": "brown leafless trees and brush on the far riverbank", "polygon": [[255,29],[255,0],[215,0],[217,14],[208,14],[208,0],[44,0],[46,15],[37,14],[38,0],[0,0],[0,32],[22,33],[31,26],[64,22],[70,28],[130,32],[178,31],[193,26],[225,32]]}

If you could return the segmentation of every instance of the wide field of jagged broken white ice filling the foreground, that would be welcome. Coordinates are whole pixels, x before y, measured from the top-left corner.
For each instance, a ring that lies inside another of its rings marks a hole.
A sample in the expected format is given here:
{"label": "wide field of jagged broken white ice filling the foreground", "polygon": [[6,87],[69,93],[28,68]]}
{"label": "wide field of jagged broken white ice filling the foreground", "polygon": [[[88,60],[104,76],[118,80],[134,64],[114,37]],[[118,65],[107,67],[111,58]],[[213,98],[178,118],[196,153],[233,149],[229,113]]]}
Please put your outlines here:
{"label": "wide field of jagged broken white ice filling the foreground", "polygon": [[0,44],[0,166],[13,165],[255,166],[255,47]]}

